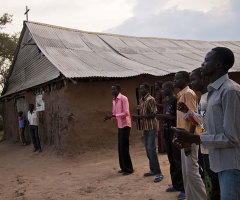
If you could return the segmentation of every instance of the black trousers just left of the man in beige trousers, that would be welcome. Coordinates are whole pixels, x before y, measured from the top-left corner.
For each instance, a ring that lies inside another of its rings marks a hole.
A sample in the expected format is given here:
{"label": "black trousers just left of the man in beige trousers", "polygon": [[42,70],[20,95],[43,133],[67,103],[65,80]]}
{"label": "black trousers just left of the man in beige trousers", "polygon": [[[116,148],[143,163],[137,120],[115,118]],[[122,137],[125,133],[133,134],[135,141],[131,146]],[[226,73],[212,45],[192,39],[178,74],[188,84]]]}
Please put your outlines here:
{"label": "black trousers just left of the man in beige trousers", "polygon": [[170,163],[170,175],[173,187],[178,191],[184,191],[182,165],[181,165],[181,151],[172,143],[174,133],[171,129],[164,128],[164,139],[166,143],[166,150],[168,160]]}

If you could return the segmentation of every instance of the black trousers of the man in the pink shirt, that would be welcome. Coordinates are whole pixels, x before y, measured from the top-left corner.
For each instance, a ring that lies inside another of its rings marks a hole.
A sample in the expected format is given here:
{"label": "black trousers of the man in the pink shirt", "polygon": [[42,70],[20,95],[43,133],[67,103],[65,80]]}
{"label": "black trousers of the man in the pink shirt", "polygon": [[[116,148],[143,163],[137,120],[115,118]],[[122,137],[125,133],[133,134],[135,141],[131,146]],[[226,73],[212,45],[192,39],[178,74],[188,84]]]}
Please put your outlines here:
{"label": "black trousers of the man in the pink shirt", "polygon": [[133,172],[131,157],[129,154],[129,136],[131,128],[125,126],[118,129],[118,157],[119,165],[122,171]]}

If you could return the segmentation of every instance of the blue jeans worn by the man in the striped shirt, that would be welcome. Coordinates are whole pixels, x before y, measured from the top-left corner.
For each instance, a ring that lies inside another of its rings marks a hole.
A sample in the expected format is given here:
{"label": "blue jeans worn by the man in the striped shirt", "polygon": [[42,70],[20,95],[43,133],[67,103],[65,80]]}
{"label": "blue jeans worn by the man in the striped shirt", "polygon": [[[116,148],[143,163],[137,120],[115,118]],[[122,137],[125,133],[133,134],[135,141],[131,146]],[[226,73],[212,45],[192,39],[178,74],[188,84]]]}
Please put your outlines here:
{"label": "blue jeans worn by the man in the striped shirt", "polygon": [[157,157],[157,152],[156,152],[156,131],[146,131],[144,130],[144,141],[145,141],[145,148],[147,152],[147,157],[149,159],[149,165],[150,165],[150,170],[156,174],[160,175],[162,174],[159,162],[158,162],[158,157]]}

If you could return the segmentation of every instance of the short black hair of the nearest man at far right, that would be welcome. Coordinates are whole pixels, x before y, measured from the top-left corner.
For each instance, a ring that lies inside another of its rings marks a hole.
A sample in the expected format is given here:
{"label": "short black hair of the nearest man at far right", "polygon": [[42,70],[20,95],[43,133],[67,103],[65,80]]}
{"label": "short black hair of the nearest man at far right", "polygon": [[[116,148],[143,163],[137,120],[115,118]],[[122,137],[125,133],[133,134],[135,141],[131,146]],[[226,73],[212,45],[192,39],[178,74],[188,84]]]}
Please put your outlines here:
{"label": "short black hair of the nearest man at far right", "polygon": [[233,52],[227,47],[216,47],[212,51],[216,52],[218,60],[223,64],[224,70],[228,72],[235,61]]}

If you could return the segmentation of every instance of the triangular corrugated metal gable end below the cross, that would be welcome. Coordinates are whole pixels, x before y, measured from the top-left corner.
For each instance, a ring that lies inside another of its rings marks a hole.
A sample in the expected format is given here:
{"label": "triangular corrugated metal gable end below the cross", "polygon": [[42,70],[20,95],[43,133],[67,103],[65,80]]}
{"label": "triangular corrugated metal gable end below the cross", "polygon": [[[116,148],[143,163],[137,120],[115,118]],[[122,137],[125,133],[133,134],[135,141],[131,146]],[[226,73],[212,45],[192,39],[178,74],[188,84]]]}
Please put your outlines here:
{"label": "triangular corrugated metal gable end below the cross", "polygon": [[34,43],[28,29],[20,42],[14,66],[7,80],[7,90],[2,97],[46,83],[60,75],[59,70]]}

